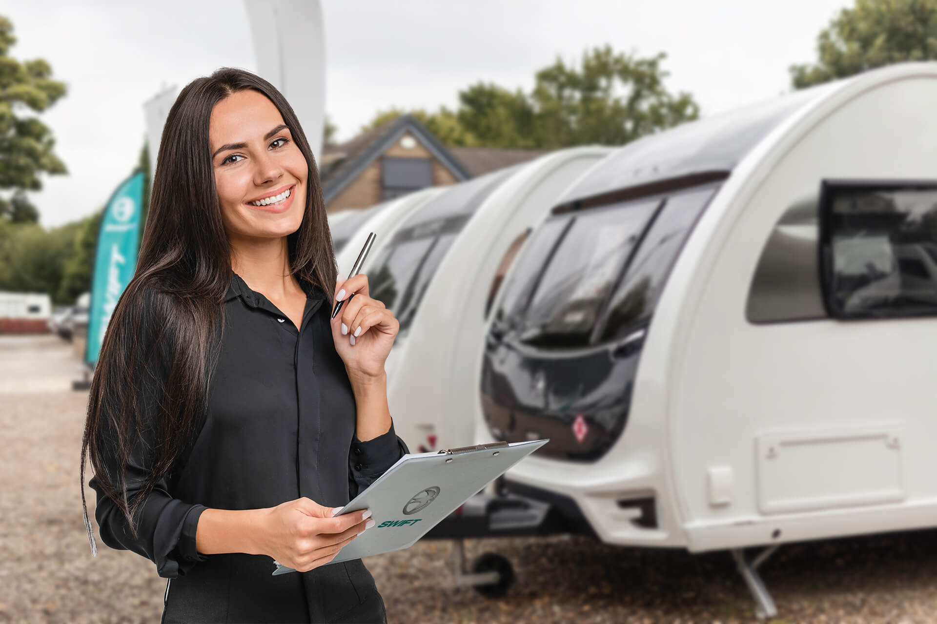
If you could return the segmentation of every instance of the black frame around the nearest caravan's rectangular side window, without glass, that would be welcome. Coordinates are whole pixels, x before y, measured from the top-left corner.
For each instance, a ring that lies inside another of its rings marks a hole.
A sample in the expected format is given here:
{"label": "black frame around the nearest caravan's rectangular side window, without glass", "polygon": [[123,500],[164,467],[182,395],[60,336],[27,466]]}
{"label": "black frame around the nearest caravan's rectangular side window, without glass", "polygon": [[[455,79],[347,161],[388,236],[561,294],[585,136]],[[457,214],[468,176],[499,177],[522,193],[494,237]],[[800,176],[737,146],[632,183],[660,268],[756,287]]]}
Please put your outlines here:
{"label": "black frame around the nearest caravan's rectangular side window, without glass", "polygon": [[817,266],[820,268],[820,290],[826,314],[837,321],[880,321],[899,318],[932,317],[933,313],[898,312],[888,315],[847,314],[840,311],[833,297],[833,253],[830,245],[832,236],[832,199],[842,191],[937,191],[937,180],[922,179],[851,179],[829,178],[820,181],[820,199],[817,204],[819,237],[817,244]]}

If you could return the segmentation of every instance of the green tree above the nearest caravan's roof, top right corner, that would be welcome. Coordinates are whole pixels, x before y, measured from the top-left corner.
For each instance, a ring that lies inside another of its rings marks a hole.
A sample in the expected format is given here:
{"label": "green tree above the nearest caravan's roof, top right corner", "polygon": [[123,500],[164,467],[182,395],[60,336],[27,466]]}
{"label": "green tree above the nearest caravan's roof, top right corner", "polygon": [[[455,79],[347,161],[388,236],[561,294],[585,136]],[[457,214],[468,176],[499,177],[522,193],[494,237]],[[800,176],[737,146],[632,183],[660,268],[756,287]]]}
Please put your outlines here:
{"label": "green tree above the nearest caravan's roof, top right corner", "polygon": [[791,66],[796,89],[900,63],[937,59],[937,0],[856,0],[817,37],[814,65]]}

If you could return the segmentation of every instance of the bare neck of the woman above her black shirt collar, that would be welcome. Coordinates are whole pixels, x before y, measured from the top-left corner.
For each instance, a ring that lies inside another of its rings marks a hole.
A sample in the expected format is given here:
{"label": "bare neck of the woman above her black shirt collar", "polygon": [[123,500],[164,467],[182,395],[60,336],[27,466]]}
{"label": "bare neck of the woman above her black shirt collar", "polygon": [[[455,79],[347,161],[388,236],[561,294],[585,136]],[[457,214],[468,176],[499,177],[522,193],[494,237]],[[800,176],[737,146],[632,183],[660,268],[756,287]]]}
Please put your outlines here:
{"label": "bare neck of the woman above her black shirt collar", "polygon": [[300,289],[290,272],[287,238],[247,239],[229,236],[231,268],[252,290],[267,298],[282,298]]}

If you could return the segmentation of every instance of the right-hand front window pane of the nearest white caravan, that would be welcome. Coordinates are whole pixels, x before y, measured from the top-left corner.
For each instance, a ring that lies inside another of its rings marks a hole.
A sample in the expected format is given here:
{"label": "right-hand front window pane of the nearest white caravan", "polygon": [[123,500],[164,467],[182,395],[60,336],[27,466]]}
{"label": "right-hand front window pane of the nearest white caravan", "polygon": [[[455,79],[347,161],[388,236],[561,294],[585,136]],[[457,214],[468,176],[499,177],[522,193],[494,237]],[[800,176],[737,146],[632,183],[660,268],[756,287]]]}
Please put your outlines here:
{"label": "right-hand front window pane of the nearest white caravan", "polygon": [[609,302],[600,341],[624,338],[647,322],[677,254],[717,190],[710,186],[667,198]]}

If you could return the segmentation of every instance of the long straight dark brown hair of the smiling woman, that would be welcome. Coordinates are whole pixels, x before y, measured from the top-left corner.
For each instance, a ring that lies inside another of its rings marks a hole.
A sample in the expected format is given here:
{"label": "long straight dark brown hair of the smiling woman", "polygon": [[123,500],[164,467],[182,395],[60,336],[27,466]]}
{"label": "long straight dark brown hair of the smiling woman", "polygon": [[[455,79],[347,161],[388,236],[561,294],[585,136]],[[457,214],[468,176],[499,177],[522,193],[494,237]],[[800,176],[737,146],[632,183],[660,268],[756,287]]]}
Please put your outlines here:
{"label": "long straight dark brown hair of the smiling woman", "polygon": [[[84,500],[85,457],[95,478],[134,517],[156,483],[190,450],[204,424],[208,389],[224,326],[231,250],[215,186],[209,120],[231,94],[253,90],[279,109],[305,156],[303,222],[287,237],[290,270],[320,286],[330,304],[337,268],[315,158],[296,114],[267,80],[222,67],[192,80],[172,105],[156,157],[150,209],[133,279],[117,302],[97,357],[82,437],[82,509],[93,554],[94,532]],[[145,479],[127,483],[127,462],[145,457]],[[127,486],[139,491],[127,497]]]}

